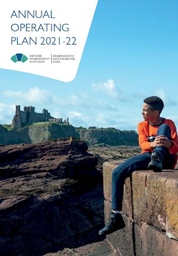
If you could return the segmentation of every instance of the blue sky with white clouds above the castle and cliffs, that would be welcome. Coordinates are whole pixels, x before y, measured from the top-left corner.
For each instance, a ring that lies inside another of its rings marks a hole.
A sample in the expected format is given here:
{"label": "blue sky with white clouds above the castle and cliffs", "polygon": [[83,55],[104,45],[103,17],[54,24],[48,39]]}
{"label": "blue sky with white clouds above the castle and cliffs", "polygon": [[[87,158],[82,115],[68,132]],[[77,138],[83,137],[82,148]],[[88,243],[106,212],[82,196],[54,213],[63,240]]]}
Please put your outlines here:
{"label": "blue sky with white clouds above the castle and cliffs", "polygon": [[176,0],[98,0],[74,80],[0,68],[0,124],[20,105],[75,127],[137,130],[143,100],[159,96],[178,127],[177,13]]}

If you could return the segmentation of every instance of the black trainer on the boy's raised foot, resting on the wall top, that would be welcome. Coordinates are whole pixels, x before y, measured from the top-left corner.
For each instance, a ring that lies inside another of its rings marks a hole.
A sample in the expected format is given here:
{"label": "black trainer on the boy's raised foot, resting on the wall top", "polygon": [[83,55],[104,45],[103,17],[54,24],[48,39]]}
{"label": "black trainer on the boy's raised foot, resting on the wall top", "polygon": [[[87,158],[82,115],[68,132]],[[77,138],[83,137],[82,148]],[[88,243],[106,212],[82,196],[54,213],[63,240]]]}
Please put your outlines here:
{"label": "black trainer on the boy's raised foot, resting on the wall top", "polygon": [[151,154],[151,162],[148,164],[148,169],[153,171],[162,171],[163,169],[163,154],[155,150]]}

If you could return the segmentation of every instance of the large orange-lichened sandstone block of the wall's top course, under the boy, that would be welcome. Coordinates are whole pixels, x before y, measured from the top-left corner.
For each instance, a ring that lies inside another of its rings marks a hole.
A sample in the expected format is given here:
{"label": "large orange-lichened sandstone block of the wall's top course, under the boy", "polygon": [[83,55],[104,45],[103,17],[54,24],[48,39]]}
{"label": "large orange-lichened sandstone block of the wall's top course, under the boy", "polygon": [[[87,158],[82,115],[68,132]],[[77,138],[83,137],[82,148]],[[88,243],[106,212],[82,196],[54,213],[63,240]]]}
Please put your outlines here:
{"label": "large orange-lichened sandstone block of the wall's top course, under the boy", "polygon": [[134,221],[151,224],[177,239],[178,171],[135,171],[132,174]]}

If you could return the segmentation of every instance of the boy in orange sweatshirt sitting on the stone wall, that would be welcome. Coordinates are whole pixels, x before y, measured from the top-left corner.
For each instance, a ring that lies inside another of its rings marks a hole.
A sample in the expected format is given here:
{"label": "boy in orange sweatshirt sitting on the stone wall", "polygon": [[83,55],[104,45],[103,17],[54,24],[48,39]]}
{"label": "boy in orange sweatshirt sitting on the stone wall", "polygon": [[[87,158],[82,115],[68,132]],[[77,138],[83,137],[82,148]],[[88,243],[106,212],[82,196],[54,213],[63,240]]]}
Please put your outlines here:
{"label": "boy in orange sweatshirt sitting on the stone wall", "polygon": [[157,96],[144,99],[142,116],[138,124],[140,155],[129,158],[112,172],[112,213],[99,235],[108,235],[125,227],[120,214],[122,210],[123,185],[126,177],[135,170],[162,171],[174,168],[177,162],[178,139],[173,121],[160,117],[163,101]]}

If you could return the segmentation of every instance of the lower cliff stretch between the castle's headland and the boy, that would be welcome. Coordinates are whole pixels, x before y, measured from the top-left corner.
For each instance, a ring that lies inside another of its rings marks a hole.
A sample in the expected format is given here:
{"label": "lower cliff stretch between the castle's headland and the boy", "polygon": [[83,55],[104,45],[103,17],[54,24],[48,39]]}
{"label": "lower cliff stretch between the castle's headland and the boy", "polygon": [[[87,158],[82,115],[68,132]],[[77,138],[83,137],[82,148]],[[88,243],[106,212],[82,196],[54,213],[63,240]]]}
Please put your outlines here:
{"label": "lower cliff stretch between the castle's headland and the boy", "polygon": [[117,130],[115,128],[100,128],[100,129],[75,129],[80,138],[87,142],[88,145],[106,144],[110,146],[138,145],[138,134],[134,130]]}

